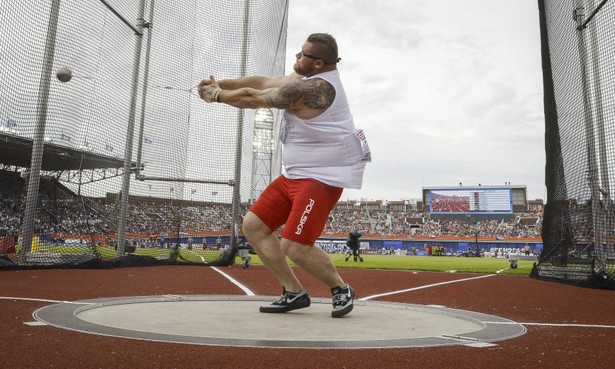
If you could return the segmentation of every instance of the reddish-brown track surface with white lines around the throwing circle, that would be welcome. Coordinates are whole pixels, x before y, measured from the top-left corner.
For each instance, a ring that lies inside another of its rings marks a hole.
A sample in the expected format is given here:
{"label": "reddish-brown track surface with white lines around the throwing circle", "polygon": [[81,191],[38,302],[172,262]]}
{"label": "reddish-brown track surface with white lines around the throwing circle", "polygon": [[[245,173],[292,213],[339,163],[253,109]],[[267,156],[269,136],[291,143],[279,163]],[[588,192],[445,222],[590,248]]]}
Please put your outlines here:
{"label": "reddish-brown track surface with white lines around the throwing circle", "polygon": [[[258,295],[279,286],[261,266],[222,268]],[[329,291],[297,271],[314,297]],[[341,269],[357,298],[475,275]],[[21,270],[0,272],[0,368],[614,368],[615,292],[529,277],[494,276],[402,294],[382,301],[436,304],[508,318],[528,332],[497,346],[378,350],[307,350],[213,347],[159,343],[29,326],[32,313],[49,302],[6,299],[83,300],[163,294],[243,292],[208,267],[167,266],[112,270]],[[172,312],[169,312],[172,314]],[[206,312],[204,312],[206,314]],[[284,316],[281,315],[283,320]],[[228,322],[229,327],[233,322]],[[348,324],[361,324],[353,321]],[[567,324],[558,326],[557,324]],[[575,326],[580,325],[580,326]],[[607,325],[588,327],[584,325]],[[323,332],[326,334],[326,332]]]}

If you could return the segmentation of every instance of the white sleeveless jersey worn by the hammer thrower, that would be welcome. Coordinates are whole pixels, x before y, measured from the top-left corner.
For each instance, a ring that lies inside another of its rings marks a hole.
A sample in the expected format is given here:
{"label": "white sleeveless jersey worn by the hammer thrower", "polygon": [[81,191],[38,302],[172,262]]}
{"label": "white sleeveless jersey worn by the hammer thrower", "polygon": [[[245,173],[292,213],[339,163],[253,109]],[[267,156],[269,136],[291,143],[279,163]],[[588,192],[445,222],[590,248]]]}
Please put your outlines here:
{"label": "white sleeveless jersey worn by the hammer thrower", "polygon": [[335,88],[333,104],[319,116],[303,120],[286,110],[280,139],[284,144],[283,175],[313,178],[330,186],[360,189],[365,163],[371,159],[363,131],[354,126],[337,70],[322,78]]}

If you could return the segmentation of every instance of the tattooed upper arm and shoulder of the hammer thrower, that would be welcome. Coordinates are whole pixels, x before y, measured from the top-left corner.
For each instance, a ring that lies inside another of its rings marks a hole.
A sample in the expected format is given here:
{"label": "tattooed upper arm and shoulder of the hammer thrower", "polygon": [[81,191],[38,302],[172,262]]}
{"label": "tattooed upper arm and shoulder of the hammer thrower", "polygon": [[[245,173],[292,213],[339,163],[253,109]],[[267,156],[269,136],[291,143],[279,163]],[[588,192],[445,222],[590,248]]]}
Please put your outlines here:
{"label": "tattooed upper arm and shoulder of the hammer thrower", "polygon": [[335,89],[323,79],[294,80],[277,89],[268,90],[265,99],[273,108],[286,109],[303,98],[307,108],[326,109],[335,100]]}

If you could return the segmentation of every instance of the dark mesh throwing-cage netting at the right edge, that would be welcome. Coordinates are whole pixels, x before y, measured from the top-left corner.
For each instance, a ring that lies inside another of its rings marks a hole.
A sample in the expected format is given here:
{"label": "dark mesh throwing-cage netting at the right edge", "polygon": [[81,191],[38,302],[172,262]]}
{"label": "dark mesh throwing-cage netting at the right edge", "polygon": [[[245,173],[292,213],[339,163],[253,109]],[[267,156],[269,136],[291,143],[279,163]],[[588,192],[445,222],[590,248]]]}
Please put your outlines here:
{"label": "dark mesh throwing-cage netting at the right edge", "polygon": [[540,0],[543,252],[532,276],[615,289],[615,4]]}

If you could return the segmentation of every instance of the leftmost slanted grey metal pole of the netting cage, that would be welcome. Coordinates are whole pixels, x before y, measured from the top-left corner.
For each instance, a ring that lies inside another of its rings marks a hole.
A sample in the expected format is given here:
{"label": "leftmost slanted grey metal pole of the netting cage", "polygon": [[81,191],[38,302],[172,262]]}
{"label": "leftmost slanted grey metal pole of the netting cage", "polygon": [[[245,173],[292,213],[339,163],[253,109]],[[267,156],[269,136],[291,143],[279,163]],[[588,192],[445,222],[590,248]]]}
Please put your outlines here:
{"label": "leftmost slanted grey metal pole of the netting cage", "polygon": [[27,262],[28,255],[30,254],[34,235],[34,218],[36,216],[38,186],[40,184],[41,166],[43,162],[45,125],[47,124],[47,108],[49,103],[49,90],[51,88],[53,61],[55,57],[59,14],[60,0],[53,0],[51,2],[51,11],[47,26],[47,41],[45,42],[45,54],[43,56],[43,69],[38,88],[38,100],[36,103],[37,121],[32,143],[30,176],[28,178],[28,190],[22,227],[23,239],[19,252],[21,260],[25,262]]}

